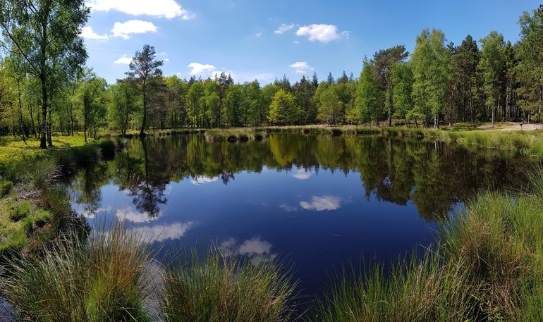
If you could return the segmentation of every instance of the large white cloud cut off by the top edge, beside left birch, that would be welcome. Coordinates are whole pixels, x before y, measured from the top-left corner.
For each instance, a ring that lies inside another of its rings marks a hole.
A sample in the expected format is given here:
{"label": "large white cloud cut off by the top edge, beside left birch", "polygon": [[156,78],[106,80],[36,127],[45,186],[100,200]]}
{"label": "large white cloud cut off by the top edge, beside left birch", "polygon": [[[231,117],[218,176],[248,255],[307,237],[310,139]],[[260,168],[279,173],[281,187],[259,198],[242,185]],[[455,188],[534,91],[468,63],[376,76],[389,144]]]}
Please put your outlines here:
{"label": "large white cloud cut off by the top edge, beside left birch", "polygon": [[91,0],[88,6],[93,11],[120,11],[131,16],[153,16],[164,18],[195,18],[175,0]]}

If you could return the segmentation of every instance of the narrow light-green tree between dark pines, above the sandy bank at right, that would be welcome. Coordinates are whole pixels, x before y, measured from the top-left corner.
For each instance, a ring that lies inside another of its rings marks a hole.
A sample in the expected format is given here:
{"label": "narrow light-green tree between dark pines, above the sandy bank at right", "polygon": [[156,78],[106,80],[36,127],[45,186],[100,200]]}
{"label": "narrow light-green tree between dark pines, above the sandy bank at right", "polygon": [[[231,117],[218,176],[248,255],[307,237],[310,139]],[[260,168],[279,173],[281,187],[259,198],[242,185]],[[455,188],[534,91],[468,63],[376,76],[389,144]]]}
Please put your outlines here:
{"label": "narrow light-green tree between dark pines, above the sandy bank at right", "polygon": [[504,36],[496,31],[481,39],[481,60],[479,68],[484,77],[484,92],[487,94],[487,107],[492,110],[492,124],[496,122],[496,111],[503,99],[503,86],[506,72],[504,55]]}

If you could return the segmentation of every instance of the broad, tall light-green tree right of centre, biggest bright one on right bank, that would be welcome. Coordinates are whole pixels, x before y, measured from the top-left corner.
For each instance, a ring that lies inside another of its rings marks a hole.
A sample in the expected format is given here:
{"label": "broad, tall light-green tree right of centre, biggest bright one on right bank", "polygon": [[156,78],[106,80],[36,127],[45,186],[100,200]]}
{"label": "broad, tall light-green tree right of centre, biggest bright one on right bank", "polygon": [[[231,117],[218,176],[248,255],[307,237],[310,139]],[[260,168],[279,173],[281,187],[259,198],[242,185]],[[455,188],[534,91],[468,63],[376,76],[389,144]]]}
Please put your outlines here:
{"label": "broad, tall light-green tree right of centre, biggest bright one on right bank", "polygon": [[449,85],[449,61],[451,55],[445,46],[445,35],[441,30],[422,30],[411,61],[413,63],[413,100],[416,113],[425,115],[425,125],[434,120],[439,128],[441,112],[446,106]]}

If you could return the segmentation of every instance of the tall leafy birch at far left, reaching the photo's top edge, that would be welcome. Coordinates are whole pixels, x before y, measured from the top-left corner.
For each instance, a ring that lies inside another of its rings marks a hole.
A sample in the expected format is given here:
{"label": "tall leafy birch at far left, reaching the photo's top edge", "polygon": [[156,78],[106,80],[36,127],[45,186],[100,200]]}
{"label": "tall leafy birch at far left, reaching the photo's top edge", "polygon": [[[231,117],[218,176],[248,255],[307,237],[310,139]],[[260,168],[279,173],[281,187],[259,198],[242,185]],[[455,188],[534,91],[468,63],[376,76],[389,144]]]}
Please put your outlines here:
{"label": "tall leafy birch at far left, reaching the photo's top edge", "polygon": [[66,70],[83,66],[87,59],[79,35],[89,12],[83,0],[0,0],[4,46],[40,83],[42,149],[47,149],[46,136],[50,132],[46,126],[49,91]]}

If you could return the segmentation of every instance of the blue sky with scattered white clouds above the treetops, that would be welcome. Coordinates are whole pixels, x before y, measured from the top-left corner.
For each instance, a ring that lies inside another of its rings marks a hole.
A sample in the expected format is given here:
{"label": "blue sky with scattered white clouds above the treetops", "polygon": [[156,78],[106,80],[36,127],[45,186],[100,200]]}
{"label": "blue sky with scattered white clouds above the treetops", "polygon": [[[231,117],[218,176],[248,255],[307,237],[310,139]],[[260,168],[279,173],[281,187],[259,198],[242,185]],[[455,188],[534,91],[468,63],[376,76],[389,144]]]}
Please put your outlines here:
{"label": "blue sky with scattered white clouds above the treetops", "polygon": [[143,44],[164,60],[165,75],[207,78],[220,71],[236,82],[317,72],[358,77],[364,56],[405,44],[422,28],[439,28],[450,42],[481,39],[492,30],[515,42],[518,17],[539,6],[528,0],[306,1],[88,0],[83,30],[87,65],[108,82],[123,78]]}

